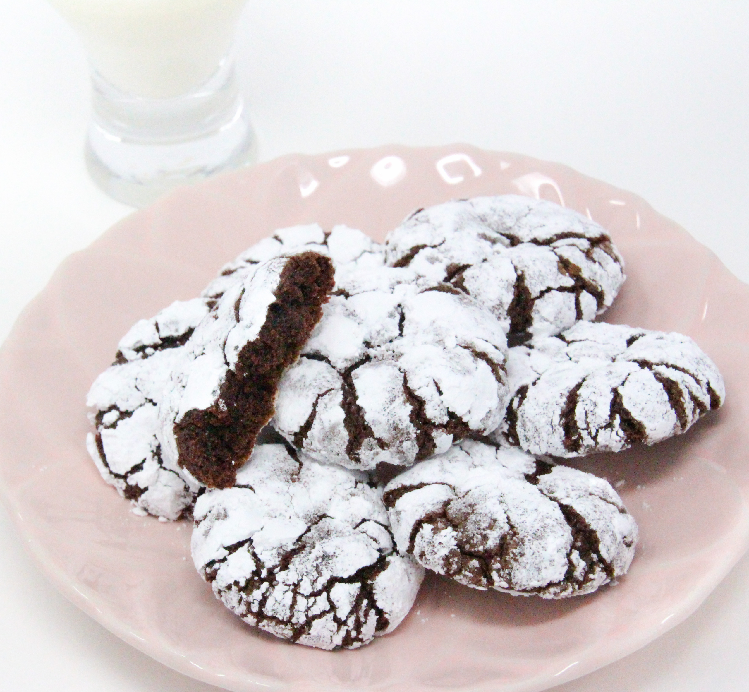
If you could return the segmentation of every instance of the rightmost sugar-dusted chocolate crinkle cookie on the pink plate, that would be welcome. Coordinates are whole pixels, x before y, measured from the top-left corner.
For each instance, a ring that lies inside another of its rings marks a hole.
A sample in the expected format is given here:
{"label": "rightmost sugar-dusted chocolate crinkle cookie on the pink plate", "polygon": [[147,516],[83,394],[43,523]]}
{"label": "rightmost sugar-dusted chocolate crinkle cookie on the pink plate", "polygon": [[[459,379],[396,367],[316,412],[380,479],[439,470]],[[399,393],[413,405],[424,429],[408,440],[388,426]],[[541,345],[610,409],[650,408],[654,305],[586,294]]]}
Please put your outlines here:
{"label": "rightmost sugar-dusted chocolate crinkle cookie on the pink plate", "polygon": [[497,442],[577,457],[652,445],[723,403],[718,368],[689,337],[579,322],[510,349]]}

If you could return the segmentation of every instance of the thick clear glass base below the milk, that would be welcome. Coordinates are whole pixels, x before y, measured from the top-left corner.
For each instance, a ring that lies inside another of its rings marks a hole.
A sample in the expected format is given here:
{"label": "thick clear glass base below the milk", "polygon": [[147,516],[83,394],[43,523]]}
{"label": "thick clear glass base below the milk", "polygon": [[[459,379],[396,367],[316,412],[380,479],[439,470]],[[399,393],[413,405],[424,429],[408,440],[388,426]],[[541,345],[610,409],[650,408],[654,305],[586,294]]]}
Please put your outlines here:
{"label": "thick clear glass base below the milk", "polygon": [[109,196],[142,207],[179,185],[248,166],[257,140],[230,60],[201,87],[169,99],[124,94],[93,72],[88,171]]}

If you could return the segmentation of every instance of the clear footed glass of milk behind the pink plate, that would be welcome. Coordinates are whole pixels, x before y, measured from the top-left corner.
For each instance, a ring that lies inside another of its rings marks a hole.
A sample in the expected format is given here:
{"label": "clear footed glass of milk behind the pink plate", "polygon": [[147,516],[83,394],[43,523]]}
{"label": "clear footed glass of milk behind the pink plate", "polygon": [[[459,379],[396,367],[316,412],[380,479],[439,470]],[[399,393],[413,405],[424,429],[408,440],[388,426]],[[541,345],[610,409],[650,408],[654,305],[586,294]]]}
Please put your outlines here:
{"label": "clear footed glass of milk behind the pink plate", "polygon": [[255,136],[231,47],[246,0],[49,0],[91,61],[86,162],[110,196],[143,206],[251,163]]}

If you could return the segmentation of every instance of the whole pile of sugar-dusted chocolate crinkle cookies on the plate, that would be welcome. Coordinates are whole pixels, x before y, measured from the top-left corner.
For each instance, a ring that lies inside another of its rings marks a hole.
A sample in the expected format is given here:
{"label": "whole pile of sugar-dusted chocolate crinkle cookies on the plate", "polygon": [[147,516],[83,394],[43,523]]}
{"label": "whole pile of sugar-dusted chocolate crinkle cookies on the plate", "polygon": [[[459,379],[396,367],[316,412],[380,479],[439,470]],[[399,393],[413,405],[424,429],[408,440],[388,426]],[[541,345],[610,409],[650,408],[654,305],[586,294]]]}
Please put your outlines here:
{"label": "whole pile of sugar-dusted chocolate crinkle cookies on the plate", "polygon": [[592,322],[624,279],[601,226],[520,196],[416,211],[384,244],[282,229],[123,337],[88,450],[136,514],[192,516],[216,596],[297,643],[392,631],[424,568],[586,594],[625,574],[637,526],[560,460],[724,399],[688,337]]}

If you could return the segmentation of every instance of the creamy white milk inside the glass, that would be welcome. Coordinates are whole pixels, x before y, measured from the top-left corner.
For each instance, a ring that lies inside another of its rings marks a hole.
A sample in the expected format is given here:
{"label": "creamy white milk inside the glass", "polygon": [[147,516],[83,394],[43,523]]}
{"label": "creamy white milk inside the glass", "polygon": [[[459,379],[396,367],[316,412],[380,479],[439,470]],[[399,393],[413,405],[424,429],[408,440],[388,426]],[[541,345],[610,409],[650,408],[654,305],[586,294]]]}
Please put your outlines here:
{"label": "creamy white milk inside the glass", "polygon": [[216,71],[247,0],[49,1],[111,85],[133,96],[171,98]]}

